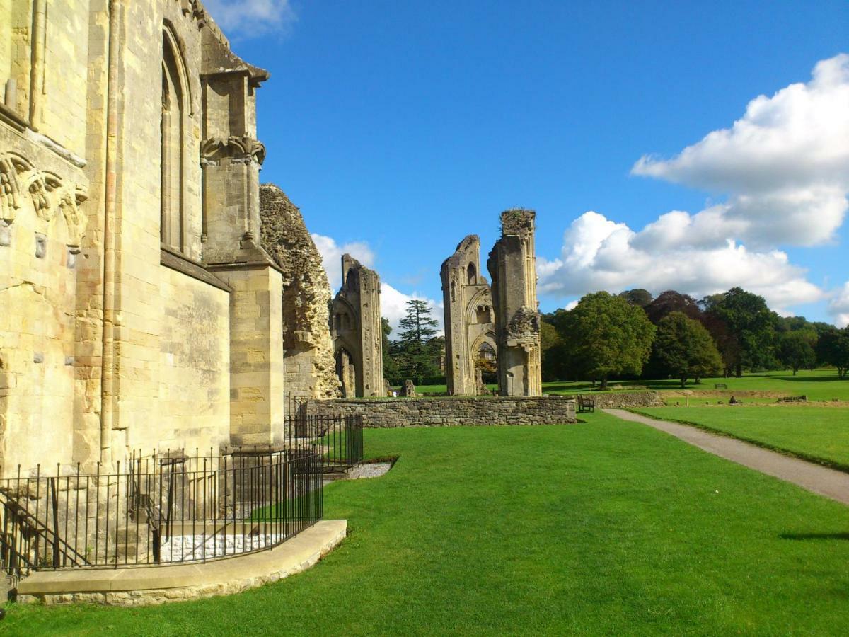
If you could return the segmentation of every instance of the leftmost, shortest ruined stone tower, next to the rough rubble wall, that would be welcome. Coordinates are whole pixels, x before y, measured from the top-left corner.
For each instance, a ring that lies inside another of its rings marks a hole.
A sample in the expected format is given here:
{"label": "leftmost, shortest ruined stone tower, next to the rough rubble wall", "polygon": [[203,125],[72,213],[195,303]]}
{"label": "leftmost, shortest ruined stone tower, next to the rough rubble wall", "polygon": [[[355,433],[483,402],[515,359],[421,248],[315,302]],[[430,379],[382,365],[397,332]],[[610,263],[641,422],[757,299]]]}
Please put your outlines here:
{"label": "leftmost, shortest ruined stone tower, next to the rough rubble wall", "polygon": [[380,276],[342,255],[342,286],[330,307],[336,375],[344,397],[382,396]]}

